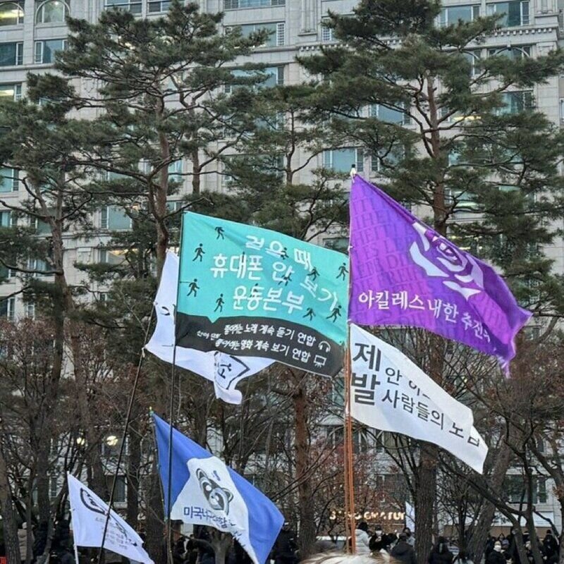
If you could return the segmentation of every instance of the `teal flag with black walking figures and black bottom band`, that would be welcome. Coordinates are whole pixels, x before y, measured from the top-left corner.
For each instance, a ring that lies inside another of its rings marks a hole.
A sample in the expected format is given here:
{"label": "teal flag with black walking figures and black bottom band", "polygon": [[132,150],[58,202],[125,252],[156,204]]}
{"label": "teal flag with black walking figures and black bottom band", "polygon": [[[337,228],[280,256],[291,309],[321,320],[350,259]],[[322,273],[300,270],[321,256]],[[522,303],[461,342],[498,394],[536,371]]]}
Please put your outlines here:
{"label": "teal flag with black walking figures and black bottom band", "polygon": [[348,257],[269,229],[183,214],[176,344],[333,376],[343,364]]}

